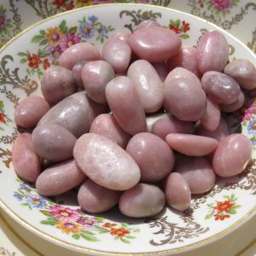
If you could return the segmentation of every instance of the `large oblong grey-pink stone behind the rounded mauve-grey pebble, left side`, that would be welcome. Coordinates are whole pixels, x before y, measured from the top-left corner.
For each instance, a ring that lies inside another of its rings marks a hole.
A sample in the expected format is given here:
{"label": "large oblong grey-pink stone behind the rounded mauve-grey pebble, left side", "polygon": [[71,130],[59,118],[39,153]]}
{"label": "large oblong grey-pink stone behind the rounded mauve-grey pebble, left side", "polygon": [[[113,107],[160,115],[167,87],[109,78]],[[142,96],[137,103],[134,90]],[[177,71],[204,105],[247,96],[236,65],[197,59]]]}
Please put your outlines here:
{"label": "large oblong grey-pink stone behind the rounded mauve-grey pebble, left side", "polygon": [[80,91],[58,102],[40,119],[38,125],[61,125],[75,137],[90,130],[96,116],[106,110],[106,104],[97,104],[90,100],[86,92]]}

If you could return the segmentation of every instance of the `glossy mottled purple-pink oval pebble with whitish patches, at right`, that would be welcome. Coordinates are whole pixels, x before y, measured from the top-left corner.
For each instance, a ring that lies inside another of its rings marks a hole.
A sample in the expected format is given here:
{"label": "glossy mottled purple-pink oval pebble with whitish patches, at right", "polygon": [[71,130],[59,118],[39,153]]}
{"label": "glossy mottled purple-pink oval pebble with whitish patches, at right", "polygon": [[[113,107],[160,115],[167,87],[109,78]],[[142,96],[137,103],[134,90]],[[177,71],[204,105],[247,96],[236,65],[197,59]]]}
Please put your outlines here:
{"label": "glossy mottled purple-pink oval pebble with whitish patches, at right", "polygon": [[241,92],[239,84],[234,79],[217,71],[204,73],[201,85],[207,96],[221,104],[236,102]]}

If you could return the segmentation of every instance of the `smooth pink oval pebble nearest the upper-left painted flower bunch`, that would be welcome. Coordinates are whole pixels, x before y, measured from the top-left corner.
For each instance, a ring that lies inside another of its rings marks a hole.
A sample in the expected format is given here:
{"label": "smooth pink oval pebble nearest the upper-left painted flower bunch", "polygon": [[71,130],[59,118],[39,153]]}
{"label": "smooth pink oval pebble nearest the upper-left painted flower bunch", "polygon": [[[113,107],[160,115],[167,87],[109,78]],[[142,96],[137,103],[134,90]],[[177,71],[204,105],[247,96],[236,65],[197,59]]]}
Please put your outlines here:
{"label": "smooth pink oval pebble nearest the upper-left painted flower bunch", "polygon": [[101,54],[95,45],[89,43],[73,44],[67,48],[59,58],[61,67],[72,70],[73,66],[80,61],[98,61]]}

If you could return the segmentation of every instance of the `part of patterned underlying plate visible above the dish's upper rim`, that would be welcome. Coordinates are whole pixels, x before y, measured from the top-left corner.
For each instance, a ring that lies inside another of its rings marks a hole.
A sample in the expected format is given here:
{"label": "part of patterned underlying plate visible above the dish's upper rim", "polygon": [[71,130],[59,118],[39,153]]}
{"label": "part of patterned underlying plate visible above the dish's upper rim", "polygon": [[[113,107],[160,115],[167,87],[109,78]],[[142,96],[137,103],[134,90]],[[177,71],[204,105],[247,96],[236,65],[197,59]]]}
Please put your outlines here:
{"label": "part of patterned underlying plate visible above the dish's upper rim", "polygon": [[253,0],[6,0],[0,3],[0,47],[39,20],[99,3],[149,3],[177,9],[223,27],[256,53]]}

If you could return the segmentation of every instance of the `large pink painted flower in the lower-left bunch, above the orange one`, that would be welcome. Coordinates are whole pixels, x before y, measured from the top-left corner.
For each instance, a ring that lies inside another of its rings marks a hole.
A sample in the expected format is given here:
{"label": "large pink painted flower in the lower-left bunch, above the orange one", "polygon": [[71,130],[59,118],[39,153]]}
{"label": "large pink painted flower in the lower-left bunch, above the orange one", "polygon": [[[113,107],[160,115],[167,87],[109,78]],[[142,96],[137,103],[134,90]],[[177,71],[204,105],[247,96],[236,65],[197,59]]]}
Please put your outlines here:
{"label": "large pink painted flower in the lower-left bunch, above the orange one", "polygon": [[55,205],[54,207],[49,207],[49,213],[52,214],[55,218],[64,221],[72,222],[79,219],[79,214],[73,209],[68,207],[62,207],[60,205]]}

